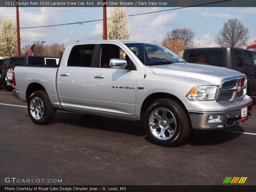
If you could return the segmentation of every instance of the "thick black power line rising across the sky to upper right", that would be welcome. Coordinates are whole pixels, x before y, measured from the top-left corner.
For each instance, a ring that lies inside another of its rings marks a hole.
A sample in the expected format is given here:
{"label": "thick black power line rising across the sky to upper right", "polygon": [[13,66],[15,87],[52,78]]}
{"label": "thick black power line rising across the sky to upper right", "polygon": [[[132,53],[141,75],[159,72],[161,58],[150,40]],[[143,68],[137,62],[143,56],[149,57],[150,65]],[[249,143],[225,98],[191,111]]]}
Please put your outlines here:
{"label": "thick black power line rising across the sky to upper right", "polygon": [[[199,6],[209,5],[209,4],[217,4],[217,3],[227,2],[227,1],[233,1],[233,0],[215,1],[215,2],[211,2],[211,3],[191,5],[191,6],[188,6],[188,7],[178,7],[178,8],[165,9],[165,10],[160,10],[160,11],[137,13],[137,14],[131,14],[131,15],[127,15],[127,16],[128,17],[132,17],[132,16],[137,16],[137,15],[146,15],[146,14],[157,13],[157,12],[165,12],[165,11],[172,11],[172,10],[177,10],[177,9],[185,9],[185,8],[190,8],[190,7],[199,7]],[[107,18],[107,19],[109,19],[109,18]],[[63,26],[63,25],[73,25],[73,24],[78,24],[78,23],[89,23],[89,22],[102,21],[102,20],[103,19],[97,19],[97,20],[88,20],[88,21],[75,22],[75,23],[64,23],[64,24],[45,25],[45,26],[37,26],[37,27],[23,27],[23,28],[20,28],[20,29],[54,27],[54,26]]]}

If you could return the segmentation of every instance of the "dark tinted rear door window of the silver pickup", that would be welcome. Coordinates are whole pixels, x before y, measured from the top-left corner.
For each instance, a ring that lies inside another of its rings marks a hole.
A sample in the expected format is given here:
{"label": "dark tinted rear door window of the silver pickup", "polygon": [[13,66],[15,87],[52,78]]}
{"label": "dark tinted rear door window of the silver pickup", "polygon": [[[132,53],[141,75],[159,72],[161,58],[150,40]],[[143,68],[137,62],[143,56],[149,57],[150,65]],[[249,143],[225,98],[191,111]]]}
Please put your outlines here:
{"label": "dark tinted rear door window of the silver pickup", "polygon": [[72,48],[68,58],[68,66],[90,67],[94,44],[76,45]]}

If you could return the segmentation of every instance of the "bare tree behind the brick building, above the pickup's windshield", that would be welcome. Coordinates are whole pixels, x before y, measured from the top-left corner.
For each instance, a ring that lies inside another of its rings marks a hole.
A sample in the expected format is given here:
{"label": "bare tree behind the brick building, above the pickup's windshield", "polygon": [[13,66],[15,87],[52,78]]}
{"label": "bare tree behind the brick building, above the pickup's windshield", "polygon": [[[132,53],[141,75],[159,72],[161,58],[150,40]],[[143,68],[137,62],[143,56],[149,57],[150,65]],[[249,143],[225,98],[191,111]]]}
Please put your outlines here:
{"label": "bare tree behind the brick building, above the pickup's windshield", "polygon": [[169,39],[180,38],[184,39],[184,46],[185,48],[188,48],[193,44],[194,37],[195,32],[189,28],[175,28],[172,31],[166,33],[166,36],[163,40],[163,45],[168,47]]}

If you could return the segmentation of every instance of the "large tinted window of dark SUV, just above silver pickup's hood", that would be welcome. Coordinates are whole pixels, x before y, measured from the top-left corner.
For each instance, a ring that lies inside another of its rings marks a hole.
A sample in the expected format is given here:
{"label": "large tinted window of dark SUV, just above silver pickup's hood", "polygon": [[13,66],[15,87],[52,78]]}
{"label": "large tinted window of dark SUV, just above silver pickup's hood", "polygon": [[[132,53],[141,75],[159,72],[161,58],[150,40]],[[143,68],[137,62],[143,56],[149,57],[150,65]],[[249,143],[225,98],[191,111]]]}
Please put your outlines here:
{"label": "large tinted window of dark SUV, just above silver pickup's hood", "polygon": [[188,62],[223,67],[223,51],[190,51]]}

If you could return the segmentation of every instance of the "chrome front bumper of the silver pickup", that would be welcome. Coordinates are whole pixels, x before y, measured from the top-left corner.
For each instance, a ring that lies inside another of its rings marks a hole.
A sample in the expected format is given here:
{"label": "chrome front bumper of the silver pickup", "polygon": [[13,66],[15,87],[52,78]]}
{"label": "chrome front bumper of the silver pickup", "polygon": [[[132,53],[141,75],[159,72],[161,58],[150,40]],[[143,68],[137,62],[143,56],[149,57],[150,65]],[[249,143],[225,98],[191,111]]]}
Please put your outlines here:
{"label": "chrome front bumper of the silver pickup", "polygon": [[[247,116],[241,117],[241,109],[247,106]],[[242,124],[251,117],[252,103],[229,111],[200,112],[188,111],[193,129],[225,129]],[[219,121],[209,121],[209,116],[220,116]]]}

